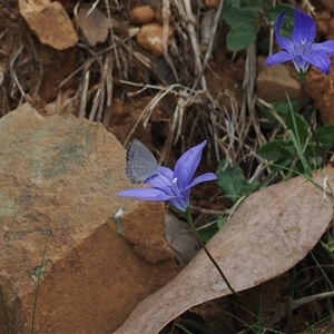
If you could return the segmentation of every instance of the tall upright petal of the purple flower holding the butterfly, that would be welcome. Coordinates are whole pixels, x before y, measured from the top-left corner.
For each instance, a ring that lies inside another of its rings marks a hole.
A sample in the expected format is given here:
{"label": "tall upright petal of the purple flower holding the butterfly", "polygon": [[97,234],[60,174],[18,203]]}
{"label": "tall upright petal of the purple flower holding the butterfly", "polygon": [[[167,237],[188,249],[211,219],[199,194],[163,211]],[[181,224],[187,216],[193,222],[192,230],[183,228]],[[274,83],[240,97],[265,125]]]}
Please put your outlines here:
{"label": "tall upright petal of the purple flower holding the butterfly", "polygon": [[204,140],[202,144],[191,147],[177,160],[174,168],[174,176],[177,178],[177,184],[180,189],[184,189],[190,184],[206,143],[207,141]]}

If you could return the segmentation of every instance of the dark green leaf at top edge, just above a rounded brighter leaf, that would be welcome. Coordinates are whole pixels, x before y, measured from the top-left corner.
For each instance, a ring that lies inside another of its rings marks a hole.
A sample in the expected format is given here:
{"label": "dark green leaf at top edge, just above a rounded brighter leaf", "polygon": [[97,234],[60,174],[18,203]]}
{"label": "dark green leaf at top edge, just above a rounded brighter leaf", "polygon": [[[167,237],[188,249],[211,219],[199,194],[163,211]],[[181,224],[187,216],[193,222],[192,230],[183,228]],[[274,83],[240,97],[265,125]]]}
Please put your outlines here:
{"label": "dark green leaf at top edge, just above a rounded brighter leaf", "polygon": [[258,12],[252,9],[233,8],[225,6],[222,10],[222,16],[226,23],[230,27],[244,23],[255,26],[258,21]]}

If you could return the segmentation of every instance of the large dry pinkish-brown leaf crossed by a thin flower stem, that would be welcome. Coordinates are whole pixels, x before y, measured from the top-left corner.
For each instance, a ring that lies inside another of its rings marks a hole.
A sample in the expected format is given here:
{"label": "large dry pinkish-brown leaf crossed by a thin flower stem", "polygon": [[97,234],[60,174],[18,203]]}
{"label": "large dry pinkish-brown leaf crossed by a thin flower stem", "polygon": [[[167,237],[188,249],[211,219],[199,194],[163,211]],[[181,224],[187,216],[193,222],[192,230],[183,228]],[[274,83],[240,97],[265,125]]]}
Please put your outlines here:
{"label": "large dry pinkish-brown leaf crossed by a thin flower stem", "polygon": [[[334,169],[325,170],[334,188]],[[324,175],[314,175],[322,187]],[[315,246],[333,217],[323,190],[296,177],[250,195],[208,243],[237,292],[288,271]],[[191,306],[230,294],[200,252],[188,266],[131,313],[117,334],[154,334]]]}

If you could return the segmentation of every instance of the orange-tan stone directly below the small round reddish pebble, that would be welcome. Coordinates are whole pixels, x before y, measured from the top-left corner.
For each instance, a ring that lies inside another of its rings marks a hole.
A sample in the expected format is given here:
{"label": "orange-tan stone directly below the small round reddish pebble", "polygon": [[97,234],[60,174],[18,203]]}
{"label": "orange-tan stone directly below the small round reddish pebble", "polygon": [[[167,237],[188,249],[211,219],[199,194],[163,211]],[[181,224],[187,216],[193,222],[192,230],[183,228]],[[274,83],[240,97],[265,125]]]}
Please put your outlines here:
{"label": "orange-tan stone directly below the small round reddish pebble", "polygon": [[[160,57],[164,53],[163,33],[164,28],[158,23],[153,22],[149,24],[145,24],[141,27],[139,33],[137,35],[137,42],[155,56]],[[169,29],[168,40],[171,35],[173,30]]]}

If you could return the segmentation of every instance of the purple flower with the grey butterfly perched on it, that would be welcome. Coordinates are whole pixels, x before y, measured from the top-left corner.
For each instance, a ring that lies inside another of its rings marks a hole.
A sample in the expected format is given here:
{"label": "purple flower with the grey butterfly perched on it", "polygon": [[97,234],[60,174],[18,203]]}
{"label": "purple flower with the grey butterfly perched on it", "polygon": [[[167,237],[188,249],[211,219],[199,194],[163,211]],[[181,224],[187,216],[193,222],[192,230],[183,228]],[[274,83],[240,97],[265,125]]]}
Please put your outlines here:
{"label": "purple flower with the grey butterfly perched on it", "polygon": [[150,187],[127,189],[117,195],[144,200],[170,200],[179,210],[186,212],[190,200],[190,188],[200,183],[217,179],[213,173],[206,173],[193,179],[205,145],[206,140],[187,150],[177,160],[174,171],[160,166],[158,173],[145,181]]}

